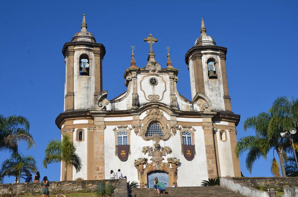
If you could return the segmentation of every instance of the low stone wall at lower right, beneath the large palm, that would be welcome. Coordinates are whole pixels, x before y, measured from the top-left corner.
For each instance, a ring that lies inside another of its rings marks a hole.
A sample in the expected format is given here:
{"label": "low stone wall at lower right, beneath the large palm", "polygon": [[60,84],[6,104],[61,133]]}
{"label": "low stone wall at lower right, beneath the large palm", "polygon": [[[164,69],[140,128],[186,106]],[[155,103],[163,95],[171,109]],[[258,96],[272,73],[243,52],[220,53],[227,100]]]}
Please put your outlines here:
{"label": "low stone wall at lower right, beneath the large palm", "polygon": [[275,188],[280,191],[283,191],[284,187],[298,186],[298,177],[233,177],[232,179],[250,187]]}

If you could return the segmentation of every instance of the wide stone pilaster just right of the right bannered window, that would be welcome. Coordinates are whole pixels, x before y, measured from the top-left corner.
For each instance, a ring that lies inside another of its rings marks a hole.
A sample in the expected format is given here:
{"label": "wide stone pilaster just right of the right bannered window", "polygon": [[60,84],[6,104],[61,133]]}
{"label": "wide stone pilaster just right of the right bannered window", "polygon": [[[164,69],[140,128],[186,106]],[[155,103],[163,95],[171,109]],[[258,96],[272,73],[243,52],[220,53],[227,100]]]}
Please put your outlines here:
{"label": "wide stone pilaster just right of the right bannered window", "polygon": [[213,126],[211,122],[211,117],[203,117],[202,128],[204,131],[205,139],[208,178],[215,178],[219,175],[217,169],[216,150],[214,145]]}

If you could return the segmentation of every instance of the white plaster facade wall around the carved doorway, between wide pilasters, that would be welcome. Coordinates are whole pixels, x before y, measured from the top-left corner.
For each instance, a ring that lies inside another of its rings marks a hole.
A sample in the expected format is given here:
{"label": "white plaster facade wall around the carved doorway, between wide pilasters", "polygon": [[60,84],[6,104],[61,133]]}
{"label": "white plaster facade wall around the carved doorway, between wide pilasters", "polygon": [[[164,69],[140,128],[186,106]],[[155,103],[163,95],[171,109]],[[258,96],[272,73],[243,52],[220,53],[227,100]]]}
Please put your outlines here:
{"label": "white plaster facade wall around the carved doorway, between wide pilasters", "polygon": [[[131,126],[129,125],[131,128]],[[114,172],[121,169],[124,176],[127,176],[128,181],[138,181],[137,169],[134,166],[134,162],[138,158],[148,158],[150,163],[150,158],[148,153],[144,155],[142,153],[142,148],[144,146],[153,146],[153,141],[146,141],[141,136],[136,135],[133,131],[130,134],[130,150],[131,154],[128,160],[122,162],[119,160],[118,156],[115,155],[115,131],[113,129],[115,126],[107,126],[104,130],[105,135],[105,178],[108,179],[110,176],[110,170]],[[180,159],[181,165],[178,167],[178,186],[200,186],[202,180],[208,178],[207,172],[207,161],[206,161],[206,151],[204,134],[201,127],[194,127],[195,131],[195,147],[196,155],[192,161],[187,161],[181,152],[181,136],[180,132],[177,132],[175,136],[170,137],[166,141],[160,141],[161,146],[169,146],[172,149],[172,153],[164,156],[163,162],[167,162],[168,157],[176,157]]]}

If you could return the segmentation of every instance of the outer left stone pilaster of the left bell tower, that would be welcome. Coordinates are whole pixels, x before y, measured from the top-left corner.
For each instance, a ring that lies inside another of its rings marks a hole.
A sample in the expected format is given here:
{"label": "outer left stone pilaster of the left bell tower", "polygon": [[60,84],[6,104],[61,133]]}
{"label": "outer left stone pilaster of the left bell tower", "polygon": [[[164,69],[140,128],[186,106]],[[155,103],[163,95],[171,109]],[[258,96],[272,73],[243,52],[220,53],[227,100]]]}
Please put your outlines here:
{"label": "outer left stone pilaster of the left bell tower", "polygon": [[64,111],[74,110],[74,46],[69,46],[66,53],[66,95]]}

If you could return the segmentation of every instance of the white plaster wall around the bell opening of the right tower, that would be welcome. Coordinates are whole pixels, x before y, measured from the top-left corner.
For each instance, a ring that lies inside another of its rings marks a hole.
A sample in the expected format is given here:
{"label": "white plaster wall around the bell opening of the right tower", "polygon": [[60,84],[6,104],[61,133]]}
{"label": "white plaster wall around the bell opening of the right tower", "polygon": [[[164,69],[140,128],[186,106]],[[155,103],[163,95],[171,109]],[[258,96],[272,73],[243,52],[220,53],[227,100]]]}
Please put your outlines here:
{"label": "white plaster wall around the bell opening of the right tower", "polygon": [[[215,52],[216,53],[216,52]],[[214,58],[217,61],[217,77],[218,79],[209,79],[208,77],[208,65],[207,60],[209,58]],[[210,98],[213,110],[225,110],[224,109],[224,86],[222,79],[221,62],[218,56],[215,55],[203,55],[203,75],[205,83],[206,95]]]}

